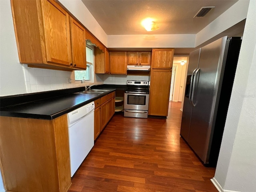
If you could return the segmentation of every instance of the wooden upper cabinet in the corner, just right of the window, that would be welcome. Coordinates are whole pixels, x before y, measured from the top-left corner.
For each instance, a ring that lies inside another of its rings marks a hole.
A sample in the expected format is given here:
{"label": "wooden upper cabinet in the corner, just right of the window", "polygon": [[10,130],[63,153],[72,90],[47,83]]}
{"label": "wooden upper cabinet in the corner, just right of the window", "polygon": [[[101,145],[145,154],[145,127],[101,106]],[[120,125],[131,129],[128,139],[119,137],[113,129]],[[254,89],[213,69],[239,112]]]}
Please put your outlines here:
{"label": "wooden upper cabinet in the corner, just right of the window", "polygon": [[94,72],[98,74],[109,74],[109,52],[107,48],[104,50],[103,52],[98,47],[94,48]]}

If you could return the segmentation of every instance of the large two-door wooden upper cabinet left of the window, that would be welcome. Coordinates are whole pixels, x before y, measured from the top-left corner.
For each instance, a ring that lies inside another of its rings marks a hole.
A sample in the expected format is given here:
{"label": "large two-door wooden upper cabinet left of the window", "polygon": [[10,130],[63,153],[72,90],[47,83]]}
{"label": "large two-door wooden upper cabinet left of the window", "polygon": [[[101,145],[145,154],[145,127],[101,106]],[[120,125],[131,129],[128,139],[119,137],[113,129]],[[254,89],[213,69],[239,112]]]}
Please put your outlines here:
{"label": "large two-door wooden upper cabinet left of the window", "polygon": [[85,52],[81,48],[85,29],[70,21],[68,12],[56,1],[11,0],[11,5],[20,63],[56,70],[85,69],[85,54],[80,55]]}

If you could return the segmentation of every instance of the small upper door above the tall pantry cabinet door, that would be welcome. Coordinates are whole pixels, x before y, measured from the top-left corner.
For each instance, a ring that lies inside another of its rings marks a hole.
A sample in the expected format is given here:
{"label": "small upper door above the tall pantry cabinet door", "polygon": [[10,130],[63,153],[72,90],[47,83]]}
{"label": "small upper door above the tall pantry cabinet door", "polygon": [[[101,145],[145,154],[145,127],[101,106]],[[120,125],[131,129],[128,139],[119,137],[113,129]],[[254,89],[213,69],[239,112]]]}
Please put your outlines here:
{"label": "small upper door above the tall pantry cabinet door", "polygon": [[174,49],[153,49],[152,50],[152,69],[171,69],[173,62]]}

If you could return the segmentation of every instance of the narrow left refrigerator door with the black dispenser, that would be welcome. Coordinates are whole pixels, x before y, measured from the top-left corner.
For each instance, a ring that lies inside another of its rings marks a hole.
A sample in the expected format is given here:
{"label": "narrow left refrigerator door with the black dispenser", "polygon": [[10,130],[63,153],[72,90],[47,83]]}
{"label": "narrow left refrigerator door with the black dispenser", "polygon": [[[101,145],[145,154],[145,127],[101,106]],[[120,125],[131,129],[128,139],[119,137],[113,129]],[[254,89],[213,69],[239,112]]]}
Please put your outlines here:
{"label": "narrow left refrigerator door with the black dispenser", "polygon": [[182,113],[182,122],[180,128],[180,135],[188,142],[188,135],[189,135],[189,128],[190,128],[190,119],[192,113],[192,104],[189,101],[189,92],[192,89],[190,83],[192,73],[198,68],[198,61],[199,61],[199,54],[200,49],[197,49],[189,54],[189,62],[188,62],[188,76],[187,76],[187,83],[186,83],[186,94],[184,98],[184,106],[183,106],[183,113]]}

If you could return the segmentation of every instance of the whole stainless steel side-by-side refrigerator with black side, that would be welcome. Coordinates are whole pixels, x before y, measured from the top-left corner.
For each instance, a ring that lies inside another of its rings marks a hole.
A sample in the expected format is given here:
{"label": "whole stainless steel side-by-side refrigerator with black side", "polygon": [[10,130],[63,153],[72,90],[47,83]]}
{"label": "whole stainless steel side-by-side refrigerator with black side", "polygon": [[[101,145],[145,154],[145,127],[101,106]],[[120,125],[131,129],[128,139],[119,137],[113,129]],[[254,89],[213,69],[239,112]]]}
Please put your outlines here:
{"label": "whole stainless steel side-by-side refrigerator with black side", "polygon": [[241,46],[220,38],[189,55],[180,135],[205,166],[216,166]]}

